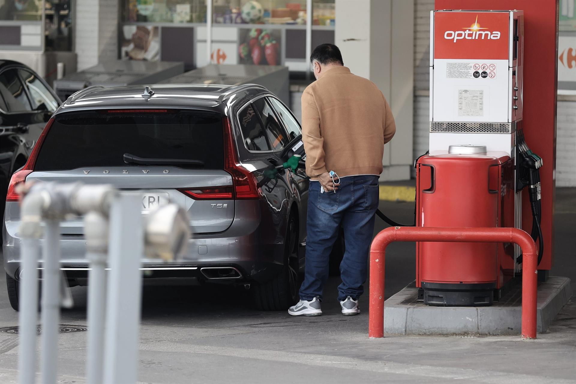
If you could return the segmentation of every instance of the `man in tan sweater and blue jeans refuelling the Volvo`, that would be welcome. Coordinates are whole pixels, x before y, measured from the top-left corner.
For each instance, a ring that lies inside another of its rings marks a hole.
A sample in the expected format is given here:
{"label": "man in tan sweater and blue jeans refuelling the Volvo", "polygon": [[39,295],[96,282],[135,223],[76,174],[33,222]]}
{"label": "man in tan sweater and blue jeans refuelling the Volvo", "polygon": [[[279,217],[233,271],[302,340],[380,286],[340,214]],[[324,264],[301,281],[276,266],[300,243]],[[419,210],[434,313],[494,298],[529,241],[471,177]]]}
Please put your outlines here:
{"label": "man in tan sweater and blue jeans refuelling the Volvo", "polygon": [[396,125],[382,92],[372,81],[350,73],[334,44],[316,47],[310,62],[316,81],[302,94],[302,140],[311,180],[306,274],[300,302],[288,313],[322,314],[328,259],[342,225],[346,252],[338,300],[343,315],[356,315],[367,277],[384,144]]}

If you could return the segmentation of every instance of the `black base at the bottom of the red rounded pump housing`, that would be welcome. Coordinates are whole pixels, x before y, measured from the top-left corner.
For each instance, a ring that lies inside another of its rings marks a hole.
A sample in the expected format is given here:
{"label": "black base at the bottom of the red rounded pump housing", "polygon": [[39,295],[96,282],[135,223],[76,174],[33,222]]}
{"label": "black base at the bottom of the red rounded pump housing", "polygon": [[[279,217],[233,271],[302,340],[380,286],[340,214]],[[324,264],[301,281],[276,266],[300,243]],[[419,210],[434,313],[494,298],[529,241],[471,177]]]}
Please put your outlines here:
{"label": "black base at the bottom of the red rounded pump housing", "polygon": [[424,303],[437,307],[482,307],[494,303],[496,283],[450,284],[422,281]]}

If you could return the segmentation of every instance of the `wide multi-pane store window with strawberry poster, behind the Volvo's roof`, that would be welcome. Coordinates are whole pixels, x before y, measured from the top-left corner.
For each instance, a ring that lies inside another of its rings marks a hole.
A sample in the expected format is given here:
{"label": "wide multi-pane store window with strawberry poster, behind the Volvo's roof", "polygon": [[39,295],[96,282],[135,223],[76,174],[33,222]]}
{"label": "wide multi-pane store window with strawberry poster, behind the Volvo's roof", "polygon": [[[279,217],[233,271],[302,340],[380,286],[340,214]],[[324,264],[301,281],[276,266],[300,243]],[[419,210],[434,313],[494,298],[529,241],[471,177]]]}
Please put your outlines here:
{"label": "wide multi-pane store window with strawberry poster, behind the Volvo's roof", "polygon": [[210,42],[206,3],[120,0],[119,58],[183,61],[186,70],[210,62],[284,65],[304,73],[306,34],[312,47],[334,43],[335,0],[312,1],[312,31],[306,28],[306,0],[213,0]]}

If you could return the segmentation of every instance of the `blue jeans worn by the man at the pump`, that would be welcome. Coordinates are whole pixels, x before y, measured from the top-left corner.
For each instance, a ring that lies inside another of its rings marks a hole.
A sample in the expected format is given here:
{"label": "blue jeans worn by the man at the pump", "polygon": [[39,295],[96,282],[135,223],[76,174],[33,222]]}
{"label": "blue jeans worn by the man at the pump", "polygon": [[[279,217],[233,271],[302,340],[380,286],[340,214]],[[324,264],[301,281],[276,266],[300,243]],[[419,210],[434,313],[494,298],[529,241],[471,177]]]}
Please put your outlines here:
{"label": "blue jeans worn by the man at the pump", "polygon": [[338,300],[347,296],[357,300],[362,295],[378,199],[377,176],[343,178],[336,193],[320,193],[320,183],[310,182],[306,274],[300,287],[301,300],[312,300],[315,296],[322,298],[328,280],[328,261],[340,225],[344,229],[346,252],[340,263],[342,284],[338,287]]}

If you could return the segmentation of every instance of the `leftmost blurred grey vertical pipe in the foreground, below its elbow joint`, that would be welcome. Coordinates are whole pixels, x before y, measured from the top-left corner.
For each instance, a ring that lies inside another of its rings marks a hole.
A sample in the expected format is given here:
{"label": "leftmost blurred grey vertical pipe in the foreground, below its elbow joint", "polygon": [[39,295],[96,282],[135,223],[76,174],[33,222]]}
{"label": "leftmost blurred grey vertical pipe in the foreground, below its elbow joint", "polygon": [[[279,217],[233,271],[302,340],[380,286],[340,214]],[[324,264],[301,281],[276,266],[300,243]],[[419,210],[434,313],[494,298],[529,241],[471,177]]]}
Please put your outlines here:
{"label": "leftmost blurred grey vertical pipe in the foreground, below its elbow joint", "polygon": [[20,342],[18,348],[18,382],[33,384],[36,378],[36,330],[38,319],[38,239],[22,238],[22,265],[18,306]]}

